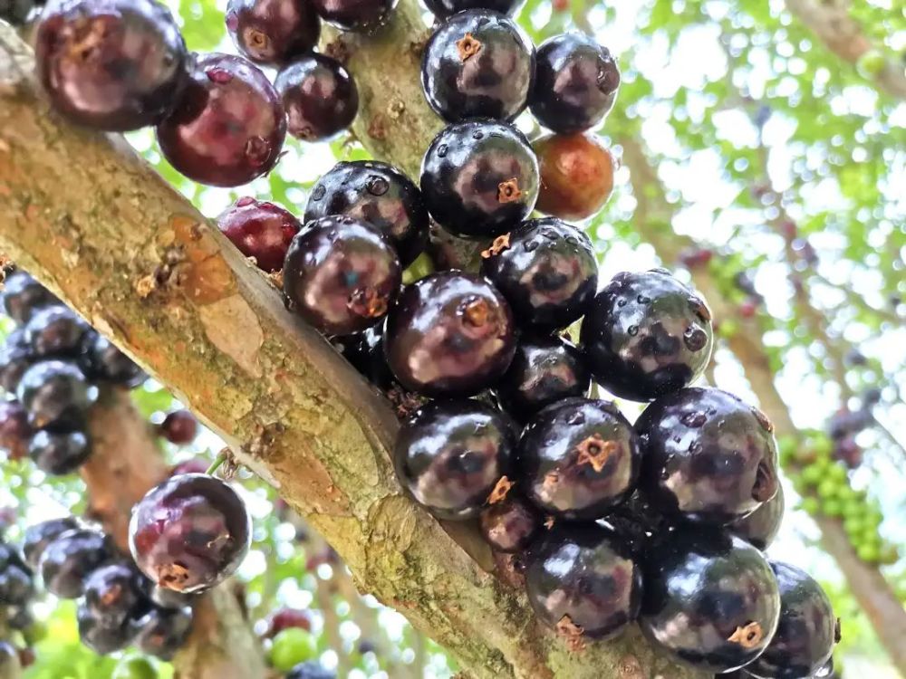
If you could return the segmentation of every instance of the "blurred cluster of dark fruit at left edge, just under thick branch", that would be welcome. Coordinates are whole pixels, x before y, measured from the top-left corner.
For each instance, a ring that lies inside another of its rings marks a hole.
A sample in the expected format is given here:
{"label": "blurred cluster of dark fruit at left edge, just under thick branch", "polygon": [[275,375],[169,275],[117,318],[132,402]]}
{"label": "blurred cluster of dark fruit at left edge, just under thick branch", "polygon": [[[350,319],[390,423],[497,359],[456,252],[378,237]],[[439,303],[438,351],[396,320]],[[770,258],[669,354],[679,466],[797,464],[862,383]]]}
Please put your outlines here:
{"label": "blurred cluster of dark fruit at left edge, just under thick branch", "polygon": [[99,385],[136,387],[145,374],[28,273],[6,276],[0,303],[17,328],[0,349],[0,447],[45,473],[75,471],[92,453],[86,416]]}

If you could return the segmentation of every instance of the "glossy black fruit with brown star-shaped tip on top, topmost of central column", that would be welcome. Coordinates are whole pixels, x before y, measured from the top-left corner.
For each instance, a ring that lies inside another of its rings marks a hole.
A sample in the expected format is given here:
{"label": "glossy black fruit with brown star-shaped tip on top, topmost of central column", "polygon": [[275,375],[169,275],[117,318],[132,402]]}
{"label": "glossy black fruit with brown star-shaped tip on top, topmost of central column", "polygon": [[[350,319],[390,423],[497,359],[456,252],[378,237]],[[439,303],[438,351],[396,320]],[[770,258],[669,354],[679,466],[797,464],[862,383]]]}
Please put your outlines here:
{"label": "glossy black fruit with brown star-shaped tip on top, topmost of central column", "polygon": [[448,18],[431,35],[421,62],[430,107],[448,122],[513,120],[535,80],[535,45],[516,22],[487,9]]}

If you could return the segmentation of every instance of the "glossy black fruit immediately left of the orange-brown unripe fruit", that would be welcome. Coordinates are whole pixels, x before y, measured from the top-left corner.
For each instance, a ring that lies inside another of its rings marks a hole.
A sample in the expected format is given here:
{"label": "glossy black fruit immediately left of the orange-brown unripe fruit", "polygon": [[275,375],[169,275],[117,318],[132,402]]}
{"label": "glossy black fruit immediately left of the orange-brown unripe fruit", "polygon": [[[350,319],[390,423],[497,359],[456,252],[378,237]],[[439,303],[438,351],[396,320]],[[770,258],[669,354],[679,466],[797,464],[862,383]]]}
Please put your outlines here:
{"label": "glossy black fruit immediately left of the orange-brown unripe fruit", "polygon": [[425,205],[449,232],[490,237],[525,220],[538,198],[538,160],[505,122],[467,120],[442,129],[421,164]]}

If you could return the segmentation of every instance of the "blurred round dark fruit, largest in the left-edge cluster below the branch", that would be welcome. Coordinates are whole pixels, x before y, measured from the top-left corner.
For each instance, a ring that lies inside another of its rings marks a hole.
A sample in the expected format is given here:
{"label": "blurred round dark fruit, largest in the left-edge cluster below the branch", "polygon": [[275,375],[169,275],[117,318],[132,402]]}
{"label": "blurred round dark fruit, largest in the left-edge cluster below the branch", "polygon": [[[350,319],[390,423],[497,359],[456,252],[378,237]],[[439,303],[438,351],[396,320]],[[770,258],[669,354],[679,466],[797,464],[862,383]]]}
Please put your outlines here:
{"label": "blurred round dark fruit, largest in the left-edge cluster below the branch", "polygon": [[25,371],[16,396],[35,428],[70,428],[82,425],[97,400],[98,387],[72,363],[44,360]]}

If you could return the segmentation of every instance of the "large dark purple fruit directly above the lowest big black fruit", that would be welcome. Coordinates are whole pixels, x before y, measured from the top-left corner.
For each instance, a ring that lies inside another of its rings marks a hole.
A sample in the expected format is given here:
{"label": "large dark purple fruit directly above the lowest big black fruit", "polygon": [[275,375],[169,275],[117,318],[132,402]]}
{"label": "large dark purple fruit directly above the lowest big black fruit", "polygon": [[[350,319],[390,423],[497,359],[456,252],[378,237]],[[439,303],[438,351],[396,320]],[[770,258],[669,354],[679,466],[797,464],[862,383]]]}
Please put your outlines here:
{"label": "large dark purple fruit directly above the lowest big black fruit", "polygon": [[726,524],[776,493],[774,427],[726,391],[689,387],[661,397],[635,428],[644,451],[641,491],[660,512]]}

